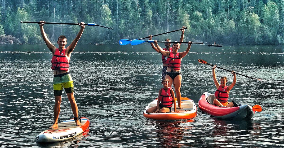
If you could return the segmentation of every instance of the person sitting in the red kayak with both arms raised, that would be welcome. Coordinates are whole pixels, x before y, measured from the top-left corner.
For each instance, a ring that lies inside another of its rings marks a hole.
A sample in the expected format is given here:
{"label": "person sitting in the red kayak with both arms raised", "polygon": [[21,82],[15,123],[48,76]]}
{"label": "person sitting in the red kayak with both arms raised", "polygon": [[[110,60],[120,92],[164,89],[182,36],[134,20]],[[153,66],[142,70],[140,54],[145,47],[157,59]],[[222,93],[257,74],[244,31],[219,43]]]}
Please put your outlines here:
{"label": "person sitting in the red kayak with both arms raised", "polygon": [[213,80],[214,80],[217,90],[215,92],[216,98],[213,100],[213,105],[234,107],[235,106],[234,103],[228,102],[228,98],[229,98],[230,90],[236,84],[236,74],[234,73],[235,71],[231,71],[231,73],[234,75],[233,83],[229,86],[226,86],[226,83],[228,81],[227,77],[224,77],[224,76],[221,77],[221,84],[219,84],[216,79],[215,68],[216,68],[216,65],[212,68],[212,73],[213,73]]}

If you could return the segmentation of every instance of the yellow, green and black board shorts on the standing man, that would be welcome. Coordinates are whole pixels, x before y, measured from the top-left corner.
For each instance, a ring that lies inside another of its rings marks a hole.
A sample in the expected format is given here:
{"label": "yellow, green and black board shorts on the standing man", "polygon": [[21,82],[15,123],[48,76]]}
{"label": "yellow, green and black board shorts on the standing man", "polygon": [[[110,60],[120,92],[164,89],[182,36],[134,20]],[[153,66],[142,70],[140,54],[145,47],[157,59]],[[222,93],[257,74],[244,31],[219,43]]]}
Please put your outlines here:
{"label": "yellow, green and black board shorts on the standing man", "polygon": [[66,94],[74,92],[74,84],[70,72],[54,75],[53,77],[54,96],[61,96],[63,88]]}

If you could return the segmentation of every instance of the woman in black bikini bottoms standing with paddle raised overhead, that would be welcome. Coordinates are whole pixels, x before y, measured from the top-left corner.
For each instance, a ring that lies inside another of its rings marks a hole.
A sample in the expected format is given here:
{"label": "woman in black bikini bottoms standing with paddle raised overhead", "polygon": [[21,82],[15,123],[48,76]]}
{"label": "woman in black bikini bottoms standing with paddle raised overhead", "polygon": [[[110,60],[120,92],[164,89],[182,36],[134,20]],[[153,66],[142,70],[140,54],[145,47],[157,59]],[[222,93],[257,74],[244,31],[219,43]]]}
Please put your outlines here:
{"label": "woman in black bikini bottoms standing with paddle raised overhead", "polygon": [[169,86],[172,86],[172,83],[175,83],[175,91],[178,100],[178,108],[183,109],[181,107],[181,93],[180,93],[180,86],[181,86],[181,59],[187,55],[190,50],[192,42],[188,42],[187,49],[184,52],[178,52],[180,48],[179,43],[173,43],[172,51],[163,50],[157,43],[157,40],[154,41],[158,50],[167,57],[166,63],[168,64],[167,71],[166,71],[166,78],[169,79]]}

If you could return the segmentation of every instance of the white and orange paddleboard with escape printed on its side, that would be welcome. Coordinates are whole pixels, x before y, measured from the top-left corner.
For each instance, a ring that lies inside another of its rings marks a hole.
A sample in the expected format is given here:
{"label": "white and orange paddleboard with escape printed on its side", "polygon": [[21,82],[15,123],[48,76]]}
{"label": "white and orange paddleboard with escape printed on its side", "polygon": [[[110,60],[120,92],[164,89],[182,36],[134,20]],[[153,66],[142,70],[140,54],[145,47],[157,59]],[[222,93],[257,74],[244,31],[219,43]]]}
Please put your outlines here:
{"label": "white and orange paddleboard with escape printed on its side", "polygon": [[58,124],[58,128],[49,128],[36,136],[36,142],[59,142],[74,138],[89,128],[90,121],[81,118],[82,126],[76,126],[75,120],[65,120]]}

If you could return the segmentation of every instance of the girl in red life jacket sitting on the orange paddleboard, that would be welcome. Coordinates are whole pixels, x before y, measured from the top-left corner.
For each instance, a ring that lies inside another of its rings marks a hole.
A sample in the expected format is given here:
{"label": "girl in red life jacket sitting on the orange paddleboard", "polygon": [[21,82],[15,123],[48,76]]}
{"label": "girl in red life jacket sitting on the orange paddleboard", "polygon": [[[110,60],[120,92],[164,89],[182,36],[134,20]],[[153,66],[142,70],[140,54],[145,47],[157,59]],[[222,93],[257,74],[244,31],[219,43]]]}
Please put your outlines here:
{"label": "girl in red life jacket sitting on the orange paddleboard", "polygon": [[146,113],[168,113],[172,111],[173,104],[174,112],[177,112],[174,90],[168,87],[169,79],[164,78],[162,84],[164,87],[159,90],[157,105],[147,109]]}

